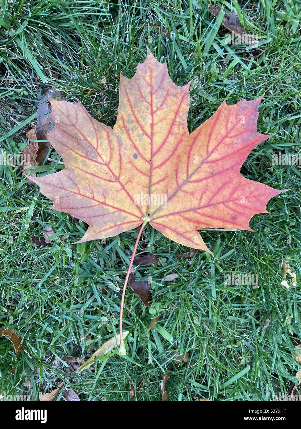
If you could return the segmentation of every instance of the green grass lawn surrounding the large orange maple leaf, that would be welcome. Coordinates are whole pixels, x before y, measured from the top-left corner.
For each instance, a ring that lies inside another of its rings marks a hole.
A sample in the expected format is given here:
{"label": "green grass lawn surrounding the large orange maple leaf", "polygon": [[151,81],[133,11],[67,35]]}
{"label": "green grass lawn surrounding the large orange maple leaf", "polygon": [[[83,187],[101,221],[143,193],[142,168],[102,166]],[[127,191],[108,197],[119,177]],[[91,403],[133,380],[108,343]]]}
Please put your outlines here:
{"label": "green grass lawn surrounding the large orange maple leaf", "polygon": [[[153,316],[127,290],[128,356],[119,357],[115,349],[79,374],[62,359],[86,360],[118,332],[121,288],[138,230],[105,243],[75,245],[87,226],[49,209],[49,200],[27,184],[21,169],[0,166],[0,327],[14,329],[25,345],[16,359],[10,342],[0,338],[0,393],[23,392],[38,400],[39,391],[64,381],[82,401],[128,401],[130,379],[138,401],[160,401],[160,382],[168,371],[170,401],[256,401],[270,400],[278,390],[284,394],[296,381],[300,283],[286,290],[280,266],[290,257],[300,279],[301,174],[300,166],[273,165],[271,156],[300,151],[301,3],[223,3],[239,12],[249,33],[259,35],[266,49],[259,57],[245,45],[225,45],[227,30],[202,0],[0,1],[3,151],[18,153],[26,143],[25,134],[36,123],[36,100],[49,88],[78,98],[112,126],[119,74],[132,77],[148,45],[158,60],[167,59],[177,85],[193,79],[190,131],[222,100],[264,95],[258,131],[273,136],[251,152],[242,173],[289,189],[268,203],[270,214],[252,218],[255,232],[203,231],[214,257],[197,251],[179,258],[188,248],[147,227],[139,254],[155,253],[158,265],[140,267],[137,275],[152,277],[154,307],[162,312],[158,325],[147,332]],[[46,160],[36,171],[58,168]],[[57,237],[52,246],[32,244],[31,237],[41,237],[46,225]],[[225,274],[232,271],[258,275],[258,288],[226,285]],[[159,280],[171,272],[179,278]],[[262,329],[266,318],[270,325]],[[174,353],[186,352],[187,363],[173,363]]]}

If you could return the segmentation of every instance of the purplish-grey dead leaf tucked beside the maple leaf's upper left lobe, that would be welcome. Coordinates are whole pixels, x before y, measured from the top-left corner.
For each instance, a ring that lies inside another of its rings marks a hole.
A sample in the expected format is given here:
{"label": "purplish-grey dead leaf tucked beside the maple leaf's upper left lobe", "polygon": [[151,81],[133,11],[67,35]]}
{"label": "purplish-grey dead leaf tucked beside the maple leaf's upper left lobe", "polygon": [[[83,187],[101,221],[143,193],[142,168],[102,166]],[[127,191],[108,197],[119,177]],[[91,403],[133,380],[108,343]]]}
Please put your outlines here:
{"label": "purplish-grey dead leaf tucked beside the maple leaf's upper left lobe", "polygon": [[[38,102],[37,106],[37,120],[36,120],[36,137],[37,140],[47,140],[46,133],[51,131],[55,126],[55,121],[50,117],[51,106],[49,97],[55,98],[55,100],[65,100],[65,97],[61,97],[61,91],[47,91],[44,97]],[[38,142],[39,150],[36,157],[36,162],[42,165],[45,161],[51,143]]]}

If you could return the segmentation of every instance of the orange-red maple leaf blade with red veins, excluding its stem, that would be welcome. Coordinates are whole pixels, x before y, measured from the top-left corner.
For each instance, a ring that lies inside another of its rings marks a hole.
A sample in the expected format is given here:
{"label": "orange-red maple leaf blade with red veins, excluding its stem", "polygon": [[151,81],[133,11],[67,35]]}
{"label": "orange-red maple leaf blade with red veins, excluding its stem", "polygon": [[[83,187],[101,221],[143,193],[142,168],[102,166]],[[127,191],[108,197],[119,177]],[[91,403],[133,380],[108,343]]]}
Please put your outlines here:
{"label": "orange-red maple leaf blade with red veins, excluding its stem", "polygon": [[252,216],[281,192],[240,174],[269,137],[257,132],[259,101],[224,101],[189,135],[189,83],[176,86],[148,51],[132,79],[120,76],[113,129],[79,102],[51,99],[56,125],[47,138],[66,168],[32,180],[55,210],[89,225],[79,242],[149,222],[175,242],[209,251],[198,230],[251,230]]}

